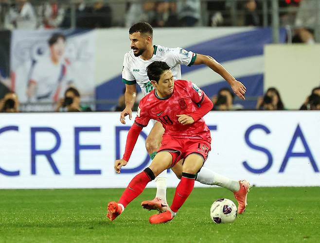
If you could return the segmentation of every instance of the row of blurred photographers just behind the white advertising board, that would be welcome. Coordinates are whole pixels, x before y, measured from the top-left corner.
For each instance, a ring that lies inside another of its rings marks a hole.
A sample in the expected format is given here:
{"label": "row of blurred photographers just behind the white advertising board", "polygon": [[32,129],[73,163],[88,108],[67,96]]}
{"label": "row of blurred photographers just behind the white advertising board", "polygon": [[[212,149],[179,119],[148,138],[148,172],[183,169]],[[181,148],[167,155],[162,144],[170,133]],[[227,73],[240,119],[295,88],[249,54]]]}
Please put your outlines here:
{"label": "row of blurred photographers just behind the white advertising board", "polygon": [[[3,89],[2,89],[3,90]],[[123,111],[125,108],[124,92],[118,99],[118,104],[114,105],[109,111]],[[213,102],[213,110],[248,110],[242,104],[238,104],[234,99],[234,94],[230,88],[221,88],[217,95],[211,97]],[[69,87],[55,106],[56,112],[80,112],[92,111],[89,106],[81,104],[81,95],[75,87]],[[133,106],[133,110],[137,110],[138,102]],[[320,110],[320,86],[311,90],[305,101],[297,110]],[[249,109],[254,110],[254,109]],[[258,97],[255,110],[287,110],[281,99],[279,91],[275,87],[267,89],[263,97]],[[16,93],[10,91],[0,93],[0,112],[19,112],[19,100]]]}

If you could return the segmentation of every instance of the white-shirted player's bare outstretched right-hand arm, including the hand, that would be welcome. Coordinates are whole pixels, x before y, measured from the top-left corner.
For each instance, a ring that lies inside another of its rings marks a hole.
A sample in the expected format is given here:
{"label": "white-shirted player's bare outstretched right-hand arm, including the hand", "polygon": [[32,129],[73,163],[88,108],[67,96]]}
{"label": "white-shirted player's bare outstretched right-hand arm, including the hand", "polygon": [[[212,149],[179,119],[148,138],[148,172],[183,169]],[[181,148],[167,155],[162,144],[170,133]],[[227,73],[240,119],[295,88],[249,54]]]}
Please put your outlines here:
{"label": "white-shirted player's bare outstretched right-hand arm, including the hand", "polygon": [[213,57],[196,54],[196,61],[194,65],[204,64],[220,74],[231,86],[233,92],[242,100],[245,100],[245,93],[247,88],[239,81],[237,81],[220,63],[214,60]]}

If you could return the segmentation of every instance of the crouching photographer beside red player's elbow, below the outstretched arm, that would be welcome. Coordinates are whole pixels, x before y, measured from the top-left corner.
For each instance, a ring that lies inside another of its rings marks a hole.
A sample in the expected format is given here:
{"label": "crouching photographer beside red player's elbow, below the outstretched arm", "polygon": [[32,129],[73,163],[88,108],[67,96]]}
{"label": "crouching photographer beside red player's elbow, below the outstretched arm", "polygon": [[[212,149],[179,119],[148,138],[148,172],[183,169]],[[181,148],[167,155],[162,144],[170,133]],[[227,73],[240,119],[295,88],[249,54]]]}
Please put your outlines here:
{"label": "crouching photographer beside red player's elbow, below the outstretched arm", "polygon": [[221,88],[217,96],[213,96],[214,110],[242,110],[243,105],[233,104],[234,94],[227,87]]}

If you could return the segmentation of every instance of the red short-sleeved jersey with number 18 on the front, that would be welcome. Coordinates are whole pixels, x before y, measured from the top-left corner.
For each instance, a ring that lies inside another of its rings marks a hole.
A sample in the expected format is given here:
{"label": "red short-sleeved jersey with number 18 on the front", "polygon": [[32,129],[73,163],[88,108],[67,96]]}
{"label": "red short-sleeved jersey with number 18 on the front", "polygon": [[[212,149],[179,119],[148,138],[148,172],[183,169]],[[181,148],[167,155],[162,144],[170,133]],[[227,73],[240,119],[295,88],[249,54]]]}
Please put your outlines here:
{"label": "red short-sleeved jersey with number 18 on the front", "polygon": [[190,115],[199,109],[205,99],[205,93],[195,84],[186,80],[176,80],[174,91],[168,98],[161,99],[156,89],[140,101],[135,123],[147,126],[150,119],[160,121],[165,129],[164,135],[176,138],[201,137],[211,142],[208,126],[203,118],[190,125],[182,125],[177,115]]}

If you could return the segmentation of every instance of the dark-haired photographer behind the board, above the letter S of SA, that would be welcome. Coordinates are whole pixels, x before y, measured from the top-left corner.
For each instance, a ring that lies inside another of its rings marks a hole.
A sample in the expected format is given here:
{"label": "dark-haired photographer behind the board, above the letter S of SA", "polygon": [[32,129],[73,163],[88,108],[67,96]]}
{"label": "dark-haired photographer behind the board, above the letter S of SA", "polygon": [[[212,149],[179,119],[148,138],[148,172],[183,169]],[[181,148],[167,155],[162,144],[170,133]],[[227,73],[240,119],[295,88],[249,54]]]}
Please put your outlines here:
{"label": "dark-haired photographer behind the board, above the letter S of SA", "polygon": [[279,91],[275,87],[267,89],[265,96],[260,97],[257,102],[257,110],[284,110]]}

